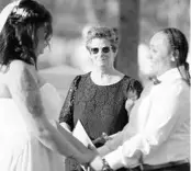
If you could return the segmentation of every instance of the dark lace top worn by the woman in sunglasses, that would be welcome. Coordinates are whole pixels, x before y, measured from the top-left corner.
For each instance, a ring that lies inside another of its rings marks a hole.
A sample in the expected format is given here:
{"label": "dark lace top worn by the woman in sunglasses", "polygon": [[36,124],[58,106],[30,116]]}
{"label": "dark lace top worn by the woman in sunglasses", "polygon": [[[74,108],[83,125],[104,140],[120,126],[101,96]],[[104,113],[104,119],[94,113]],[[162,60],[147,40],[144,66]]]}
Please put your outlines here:
{"label": "dark lace top worn by the woman in sunglasses", "polygon": [[63,105],[59,122],[66,122],[74,129],[80,119],[92,140],[103,132],[115,134],[128,122],[125,101],[130,95],[139,98],[142,90],[142,84],[127,76],[111,86],[96,84],[90,72],[77,76]]}

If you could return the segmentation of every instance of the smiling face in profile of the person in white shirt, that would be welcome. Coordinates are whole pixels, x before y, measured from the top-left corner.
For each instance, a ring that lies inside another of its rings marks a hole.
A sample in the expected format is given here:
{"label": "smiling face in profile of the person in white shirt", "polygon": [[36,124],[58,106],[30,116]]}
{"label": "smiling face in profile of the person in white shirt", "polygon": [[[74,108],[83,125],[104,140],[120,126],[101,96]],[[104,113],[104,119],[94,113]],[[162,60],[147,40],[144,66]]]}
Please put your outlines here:
{"label": "smiling face in profile of the person in white shirt", "polygon": [[175,54],[171,50],[167,35],[162,32],[156,33],[151,37],[149,52],[147,75],[160,76],[167,70],[176,67]]}

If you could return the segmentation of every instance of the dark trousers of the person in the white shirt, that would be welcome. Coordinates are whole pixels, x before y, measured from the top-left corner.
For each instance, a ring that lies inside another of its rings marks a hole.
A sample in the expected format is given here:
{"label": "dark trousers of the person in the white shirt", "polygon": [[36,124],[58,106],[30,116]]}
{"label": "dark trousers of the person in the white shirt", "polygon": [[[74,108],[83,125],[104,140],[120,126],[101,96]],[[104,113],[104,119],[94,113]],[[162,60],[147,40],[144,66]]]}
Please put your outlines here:
{"label": "dark trousers of the person in the white shirt", "polygon": [[141,169],[141,167],[136,167],[134,169],[131,169],[131,171],[190,171],[190,163],[164,167],[159,169],[146,169],[145,167],[143,170]]}

